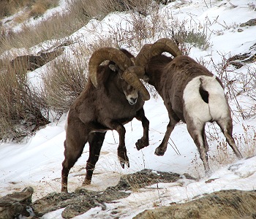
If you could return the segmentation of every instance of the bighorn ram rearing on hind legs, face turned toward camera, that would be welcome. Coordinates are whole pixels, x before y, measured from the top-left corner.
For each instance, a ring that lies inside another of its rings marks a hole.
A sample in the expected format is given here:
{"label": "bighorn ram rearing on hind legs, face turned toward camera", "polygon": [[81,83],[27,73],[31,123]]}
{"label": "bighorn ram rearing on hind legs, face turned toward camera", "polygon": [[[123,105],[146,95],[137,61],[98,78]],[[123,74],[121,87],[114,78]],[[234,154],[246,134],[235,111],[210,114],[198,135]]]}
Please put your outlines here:
{"label": "bighorn ram rearing on hind legs, face turned toward camera", "polygon": [[[109,60],[105,65],[102,61]],[[129,167],[124,142],[124,124],[137,118],[142,122],[143,137],[135,144],[138,150],[148,146],[149,122],[143,110],[150,98],[138,76],[125,71],[132,66],[134,57],[127,50],[101,48],[91,55],[89,80],[86,87],[69,108],[67,116],[64,161],[61,172],[61,191],[67,192],[67,177],[89,142],[89,158],[83,185],[91,183],[105,133],[116,130],[119,134],[118,159],[122,168]]]}

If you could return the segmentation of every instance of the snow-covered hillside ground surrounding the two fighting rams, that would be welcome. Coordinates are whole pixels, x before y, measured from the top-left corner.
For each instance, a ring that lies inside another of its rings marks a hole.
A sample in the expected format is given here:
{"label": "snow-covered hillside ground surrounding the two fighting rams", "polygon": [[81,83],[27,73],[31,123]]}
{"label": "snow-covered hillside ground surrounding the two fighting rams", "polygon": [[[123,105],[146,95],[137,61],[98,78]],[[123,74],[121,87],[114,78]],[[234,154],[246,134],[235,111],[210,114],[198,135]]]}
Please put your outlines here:
{"label": "snow-covered hillside ground surrounding the two fighting rams", "polygon": [[[49,9],[43,17],[26,20],[26,25],[37,26],[37,22],[51,18],[56,11],[67,12],[65,2],[60,1],[58,7]],[[154,173],[175,173],[181,177],[176,182],[159,182],[145,188],[134,186],[127,190],[129,196],[108,203],[103,201],[105,204],[98,204],[75,218],[133,218],[144,210],[185,203],[213,192],[255,190],[256,22],[252,20],[256,18],[255,4],[249,0],[171,1],[166,5],[160,4],[159,7],[154,4],[148,9],[146,16],[133,9],[111,12],[104,18],[91,18],[82,28],[65,37],[56,33],[56,39],[48,39],[31,47],[12,47],[4,51],[1,48],[1,58],[11,61],[17,55],[35,55],[39,51],[50,51],[51,48],[66,43],[61,55],[27,73],[29,85],[39,88],[44,75],[60,61],[71,61],[74,67],[71,65],[70,69],[76,69],[79,63],[84,66],[80,67],[82,74],[87,74],[89,57],[98,47],[124,47],[137,55],[144,44],[162,37],[176,37],[173,33],[182,32],[185,37],[178,35],[177,39],[187,40],[179,45],[183,52],[206,66],[225,85],[233,116],[233,136],[244,155],[242,160],[236,159],[215,123],[206,126],[209,162],[213,172],[210,176],[204,173],[197,148],[184,123],[179,123],[171,134],[165,155],[154,155],[155,148],[164,137],[168,116],[162,99],[148,87],[151,99],[146,101],[144,109],[150,121],[150,145],[138,151],[135,142],[143,134],[141,123],[138,120],[128,123],[125,128],[130,167],[121,169],[116,153],[118,134],[116,131],[108,131],[92,183],[85,189],[103,191],[116,186],[120,177],[143,169],[151,169]],[[145,28],[135,26],[138,23],[144,23]],[[20,25],[12,23],[11,28],[19,31]],[[56,115],[59,114],[51,111],[50,123],[20,142],[2,140],[0,196],[22,191],[28,186],[34,188],[32,201],[49,193],[60,193],[64,124],[67,118],[67,109],[61,110],[63,114],[58,119]],[[88,156],[89,147],[86,145],[69,174],[70,193],[83,182]],[[188,179],[187,174],[192,177]],[[42,218],[62,218],[63,211],[64,208],[61,208]]]}

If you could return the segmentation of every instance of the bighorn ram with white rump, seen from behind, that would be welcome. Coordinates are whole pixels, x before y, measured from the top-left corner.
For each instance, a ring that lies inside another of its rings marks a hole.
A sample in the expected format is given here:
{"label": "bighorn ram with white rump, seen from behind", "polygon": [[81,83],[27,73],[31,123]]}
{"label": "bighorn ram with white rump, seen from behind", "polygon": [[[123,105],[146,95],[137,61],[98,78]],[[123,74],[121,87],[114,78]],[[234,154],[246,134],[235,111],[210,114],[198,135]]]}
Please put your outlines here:
{"label": "bighorn ram with white rump, seen from behind", "polygon": [[[162,55],[163,52],[175,58]],[[197,146],[206,173],[210,173],[205,124],[216,121],[236,156],[242,158],[232,137],[230,107],[219,78],[192,58],[182,55],[170,39],[159,39],[153,45],[144,45],[135,64],[138,69],[133,71],[139,72],[140,77],[146,74],[148,83],[164,100],[170,118],[165,137],[155,150],[156,155],[164,155],[174,126],[182,120],[187,123],[187,130]]]}

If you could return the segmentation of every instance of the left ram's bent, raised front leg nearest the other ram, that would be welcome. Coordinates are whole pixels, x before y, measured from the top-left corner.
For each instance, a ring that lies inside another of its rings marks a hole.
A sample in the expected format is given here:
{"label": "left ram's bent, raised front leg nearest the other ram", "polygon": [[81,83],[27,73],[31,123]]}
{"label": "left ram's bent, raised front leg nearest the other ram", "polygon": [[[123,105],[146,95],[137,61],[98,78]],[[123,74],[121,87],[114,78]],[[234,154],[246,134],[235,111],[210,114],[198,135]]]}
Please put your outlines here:
{"label": "left ram's bent, raised front leg nearest the other ram", "polygon": [[136,142],[135,144],[137,150],[140,150],[143,147],[147,147],[149,145],[149,140],[148,140],[149,121],[145,116],[145,112],[143,108],[136,113],[136,118],[141,121],[143,126],[143,137],[141,137],[141,139],[138,139],[138,142]]}

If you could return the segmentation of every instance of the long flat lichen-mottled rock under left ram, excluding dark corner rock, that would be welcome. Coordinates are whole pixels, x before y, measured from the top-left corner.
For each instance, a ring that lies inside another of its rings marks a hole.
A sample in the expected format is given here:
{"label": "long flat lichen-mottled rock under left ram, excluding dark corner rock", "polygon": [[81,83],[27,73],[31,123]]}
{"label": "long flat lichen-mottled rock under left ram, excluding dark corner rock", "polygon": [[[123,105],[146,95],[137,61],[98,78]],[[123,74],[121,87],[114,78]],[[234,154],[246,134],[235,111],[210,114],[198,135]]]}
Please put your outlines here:
{"label": "long flat lichen-mottled rock under left ram, excluding dark corner rock", "polygon": [[38,217],[65,207],[61,214],[62,217],[74,218],[93,207],[102,207],[102,210],[105,210],[105,203],[126,198],[130,195],[130,192],[127,191],[132,189],[143,188],[155,183],[173,183],[180,178],[180,174],[176,173],[143,169],[140,172],[122,176],[118,185],[108,187],[105,191],[96,192],[78,188],[74,193],[50,193],[48,196],[34,201],[31,207]]}

